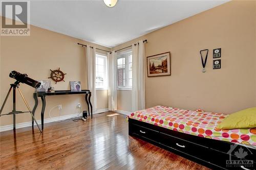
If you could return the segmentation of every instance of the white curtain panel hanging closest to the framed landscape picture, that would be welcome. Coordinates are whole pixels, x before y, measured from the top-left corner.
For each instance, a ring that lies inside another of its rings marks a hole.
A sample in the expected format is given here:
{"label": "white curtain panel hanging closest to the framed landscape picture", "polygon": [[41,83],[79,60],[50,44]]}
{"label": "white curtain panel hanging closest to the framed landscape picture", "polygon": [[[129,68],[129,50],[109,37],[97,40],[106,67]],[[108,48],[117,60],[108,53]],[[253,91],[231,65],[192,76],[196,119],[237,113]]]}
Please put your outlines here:
{"label": "white curtain panel hanging closest to the framed landscape picture", "polygon": [[132,111],[145,109],[145,69],[144,43],[133,44],[133,87]]}

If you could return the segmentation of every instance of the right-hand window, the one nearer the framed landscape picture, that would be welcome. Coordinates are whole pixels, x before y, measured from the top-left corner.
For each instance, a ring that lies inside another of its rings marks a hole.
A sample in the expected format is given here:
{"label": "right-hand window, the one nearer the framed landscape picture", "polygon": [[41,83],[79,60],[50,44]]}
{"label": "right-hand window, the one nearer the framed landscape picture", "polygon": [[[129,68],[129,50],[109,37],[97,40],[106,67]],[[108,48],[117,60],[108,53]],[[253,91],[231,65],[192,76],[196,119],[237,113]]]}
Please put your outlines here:
{"label": "right-hand window, the one nearer the framed landscape picture", "polygon": [[132,52],[120,53],[117,57],[118,89],[131,89],[132,76]]}

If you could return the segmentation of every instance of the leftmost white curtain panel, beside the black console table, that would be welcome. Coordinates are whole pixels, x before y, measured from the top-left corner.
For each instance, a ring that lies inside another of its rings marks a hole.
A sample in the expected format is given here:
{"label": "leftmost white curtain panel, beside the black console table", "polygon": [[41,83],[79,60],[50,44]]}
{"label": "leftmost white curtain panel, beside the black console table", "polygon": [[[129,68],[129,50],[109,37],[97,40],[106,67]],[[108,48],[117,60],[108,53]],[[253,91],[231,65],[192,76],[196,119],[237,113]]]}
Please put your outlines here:
{"label": "leftmost white curtain panel, beside the black console table", "polygon": [[[96,59],[96,51],[95,47],[90,47],[89,44],[87,44],[86,47],[86,64],[87,64],[87,87],[91,91],[91,102],[93,105],[93,112],[97,110],[97,97],[96,97],[96,88],[95,88],[95,59]],[[92,114],[92,113],[91,113]]]}

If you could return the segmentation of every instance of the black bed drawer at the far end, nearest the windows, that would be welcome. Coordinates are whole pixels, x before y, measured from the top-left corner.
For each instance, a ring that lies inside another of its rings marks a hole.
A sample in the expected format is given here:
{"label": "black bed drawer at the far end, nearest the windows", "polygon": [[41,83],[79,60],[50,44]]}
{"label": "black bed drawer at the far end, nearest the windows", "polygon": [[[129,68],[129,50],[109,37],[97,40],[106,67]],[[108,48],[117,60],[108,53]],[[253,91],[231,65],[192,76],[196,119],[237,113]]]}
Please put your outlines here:
{"label": "black bed drawer at the far end, nearest the windows", "polygon": [[131,124],[129,129],[131,128],[131,132],[132,134],[136,134],[151,140],[156,140],[159,138],[159,132],[152,130],[152,129],[148,129],[142,126],[138,126],[136,124]]}

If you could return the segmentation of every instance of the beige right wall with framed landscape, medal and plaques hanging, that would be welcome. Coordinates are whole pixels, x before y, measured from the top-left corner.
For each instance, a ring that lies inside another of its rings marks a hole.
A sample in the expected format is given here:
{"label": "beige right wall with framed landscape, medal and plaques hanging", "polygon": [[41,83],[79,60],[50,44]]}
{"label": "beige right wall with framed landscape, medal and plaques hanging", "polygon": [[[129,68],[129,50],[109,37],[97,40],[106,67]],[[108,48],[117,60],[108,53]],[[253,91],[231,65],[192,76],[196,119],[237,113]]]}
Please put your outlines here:
{"label": "beige right wall with framed landscape, medal and plaques hanging", "polygon": [[[255,1],[231,1],[111,50],[147,39],[145,56],[171,52],[172,76],[145,78],[146,108],[232,113],[256,106],[255,22]],[[213,70],[212,50],[218,47],[222,68]],[[209,56],[203,73],[199,51],[205,48]],[[118,107],[131,102],[131,93],[122,98],[127,100]]]}

